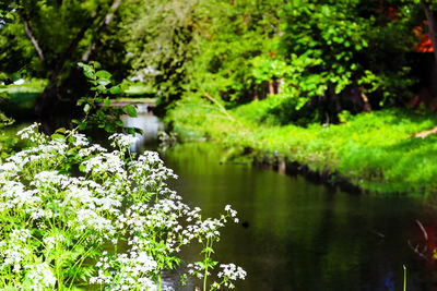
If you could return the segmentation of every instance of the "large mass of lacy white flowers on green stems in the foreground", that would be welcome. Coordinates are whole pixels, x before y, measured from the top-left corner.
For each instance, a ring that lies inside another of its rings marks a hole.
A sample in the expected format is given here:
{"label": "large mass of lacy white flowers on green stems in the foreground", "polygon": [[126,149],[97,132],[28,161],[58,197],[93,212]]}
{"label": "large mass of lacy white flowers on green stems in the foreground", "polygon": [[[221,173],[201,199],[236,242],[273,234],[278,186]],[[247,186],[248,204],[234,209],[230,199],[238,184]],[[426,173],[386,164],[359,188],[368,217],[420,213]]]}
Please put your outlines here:
{"label": "large mass of lacy white flowers on green stems in the foreground", "polygon": [[[0,165],[0,225],[8,226],[0,234],[0,277],[10,278],[0,289],[12,281],[19,289],[55,288],[56,269],[69,284],[88,276],[103,289],[162,290],[161,272],[180,264],[181,247],[217,241],[227,218],[238,221],[228,205],[220,219],[202,219],[200,208],[166,186],[177,177],[157,153],[126,155],[132,136],[113,135],[118,149],[109,151],[75,132],[51,140],[32,125],[20,135],[35,145]],[[119,253],[123,238],[129,250]],[[106,253],[109,242],[114,252]],[[92,254],[99,258],[90,277],[78,266]],[[190,266],[189,275],[204,275],[201,264]],[[228,267],[221,275],[227,282],[243,272]]]}

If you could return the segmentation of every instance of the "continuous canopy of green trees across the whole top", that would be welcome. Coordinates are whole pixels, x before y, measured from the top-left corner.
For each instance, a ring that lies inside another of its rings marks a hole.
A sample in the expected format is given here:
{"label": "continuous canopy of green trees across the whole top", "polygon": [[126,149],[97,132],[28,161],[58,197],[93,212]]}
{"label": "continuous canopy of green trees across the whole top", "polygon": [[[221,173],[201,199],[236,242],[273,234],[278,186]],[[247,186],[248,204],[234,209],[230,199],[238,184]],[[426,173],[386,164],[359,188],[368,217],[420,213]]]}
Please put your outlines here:
{"label": "continuous canopy of green trees across the whole top", "polygon": [[181,98],[227,108],[267,98],[280,123],[334,122],[343,110],[408,104],[432,54],[416,47],[427,35],[436,43],[436,3],[425,0],[15,0],[0,9],[1,78],[48,80],[39,117],[80,98],[76,64],[97,61],[118,81],[154,87],[157,111]]}

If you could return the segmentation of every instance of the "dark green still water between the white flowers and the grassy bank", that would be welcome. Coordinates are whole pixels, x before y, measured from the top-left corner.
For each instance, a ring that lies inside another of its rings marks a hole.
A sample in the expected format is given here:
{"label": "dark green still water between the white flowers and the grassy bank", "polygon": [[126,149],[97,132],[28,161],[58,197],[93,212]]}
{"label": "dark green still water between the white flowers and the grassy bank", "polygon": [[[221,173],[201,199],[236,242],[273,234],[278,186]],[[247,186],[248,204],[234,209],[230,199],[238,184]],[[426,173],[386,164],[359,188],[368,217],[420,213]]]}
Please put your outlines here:
{"label": "dark green still water between the white flowers and the grassy bank", "polygon": [[[435,290],[432,264],[409,246],[426,245],[415,219],[436,229],[437,214],[417,198],[357,195],[270,170],[221,165],[208,143],[162,154],[179,175],[170,183],[192,206],[217,216],[226,204],[245,226],[229,225],[216,256],[248,277],[236,290]],[[430,235],[434,240],[434,235]]]}

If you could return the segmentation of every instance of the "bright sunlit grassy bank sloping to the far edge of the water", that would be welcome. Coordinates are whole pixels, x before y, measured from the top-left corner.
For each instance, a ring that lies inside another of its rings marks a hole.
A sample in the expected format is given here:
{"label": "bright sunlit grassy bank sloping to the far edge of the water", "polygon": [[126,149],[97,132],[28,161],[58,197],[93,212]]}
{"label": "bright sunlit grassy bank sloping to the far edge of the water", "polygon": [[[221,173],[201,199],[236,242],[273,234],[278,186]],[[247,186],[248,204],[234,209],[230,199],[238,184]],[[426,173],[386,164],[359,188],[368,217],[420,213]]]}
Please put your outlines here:
{"label": "bright sunlit grassy bank sloping to the far edge of the water", "polygon": [[[437,114],[385,109],[342,124],[308,128],[265,119],[265,102],[228,111],[203,99],[179,101],[167,116],[182,140],[208,137],[241,155],[275,150],[316,172],[330,172],[367,191],[437,193],[437,136],[414,134],[437,125]],[[248,150],[249,149],[249,150]]]}

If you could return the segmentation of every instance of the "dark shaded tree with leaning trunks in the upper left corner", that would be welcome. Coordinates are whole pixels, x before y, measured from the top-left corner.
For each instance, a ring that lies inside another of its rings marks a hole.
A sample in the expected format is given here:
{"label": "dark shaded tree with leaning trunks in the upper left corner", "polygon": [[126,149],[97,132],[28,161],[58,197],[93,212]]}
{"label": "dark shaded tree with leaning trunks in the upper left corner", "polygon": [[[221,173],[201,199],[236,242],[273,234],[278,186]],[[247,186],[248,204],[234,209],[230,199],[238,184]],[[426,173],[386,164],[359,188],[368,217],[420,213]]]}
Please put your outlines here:
{"label": "dark shaded tree with leaning trunks in the upper left corner", "polygon": [[4,45],[1,54],[9,57],[0,70],[11,72],[27,66],[34,75],[48,78],[37,100],[37,117],[52,114],[54,106],[69,95],[72,99],[80,96],[78,88],[82,86],[76,83],[80,80],[76,63],[97,59],[96,52],[105,46],[105,40],[117,39],[118,34],[108,36],[108,32],[117,26],[114,20],[120,21],[116,12],[121,3],[121,0],[9,3],[15,20],[0,29]]}

